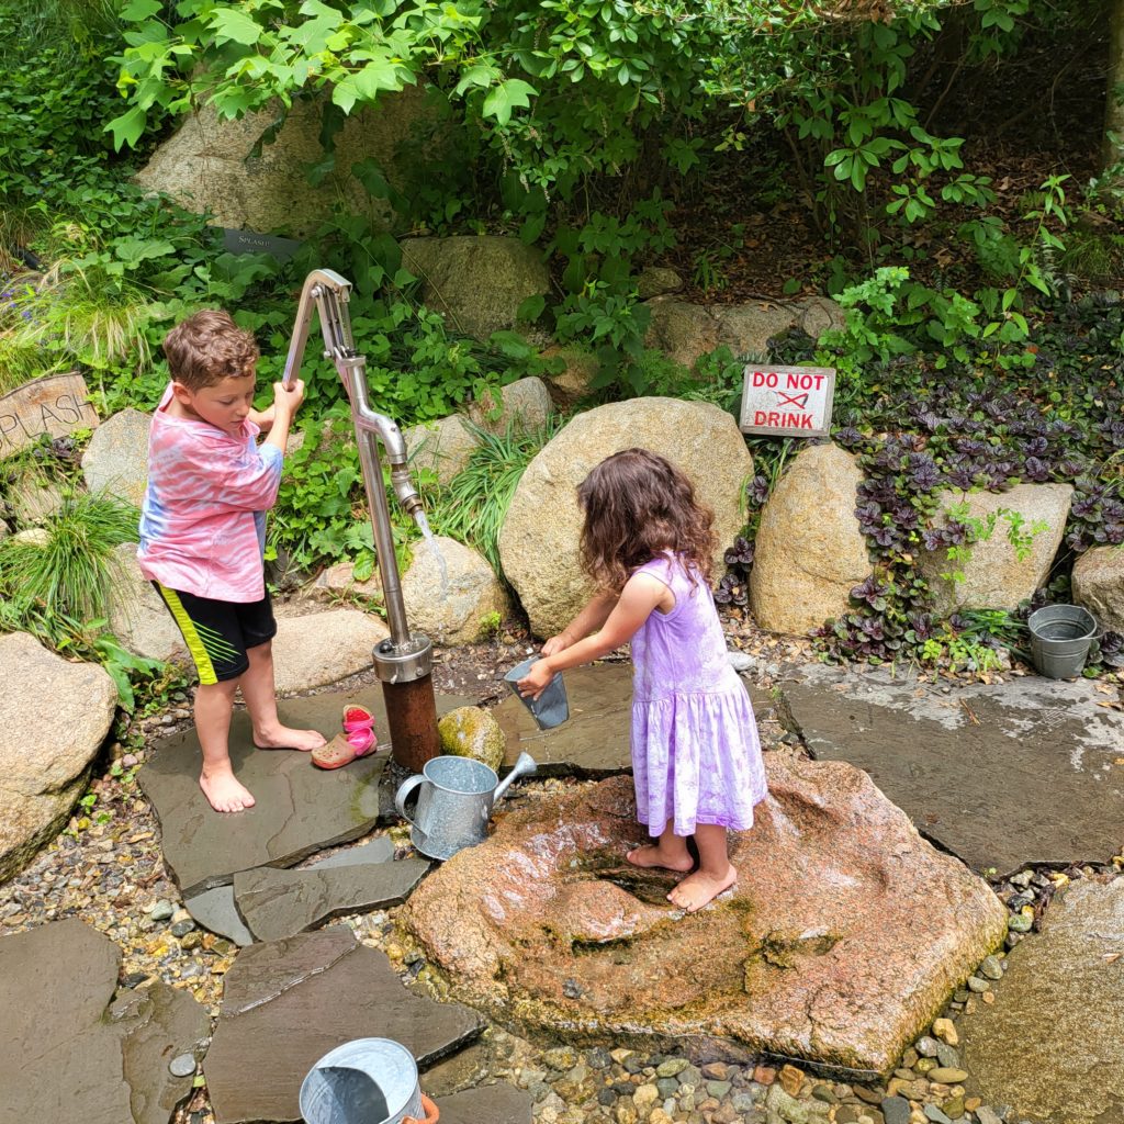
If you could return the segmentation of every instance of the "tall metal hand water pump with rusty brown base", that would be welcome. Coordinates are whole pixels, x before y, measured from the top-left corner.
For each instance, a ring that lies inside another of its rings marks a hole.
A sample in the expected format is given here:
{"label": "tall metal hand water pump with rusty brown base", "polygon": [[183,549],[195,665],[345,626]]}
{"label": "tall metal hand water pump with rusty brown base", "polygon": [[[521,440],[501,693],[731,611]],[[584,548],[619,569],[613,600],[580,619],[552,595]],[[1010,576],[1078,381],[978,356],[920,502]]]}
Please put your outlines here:
{"label": "tall metal hand water pump with rusty brown base", "polygon": [[351,402],[352,425],[359,444],[366,502],[371,511],[374,549],[382,577],[382,599],[387,609],[390,636],[377,644],[373,652],[375,674],[382,683],[390,726],[391,755],[413,772],[441,753],[437,736],[437,704],[433,692],[433,644],[428,637],[411,633],[406,622],[406,605],[395,559],[395,538],[390,526],[390,508],[382,480],[377,439],[390,463],[390,482],[402,507],[414,517],[424,534],[428,534],[422,499],[410,480],[406,441],[397,424],[377,414],[366,400],[366,360],[356,353],[347,302],[351,282],[333,270],[314,270],[305,279],[297,306],[289,356],[282,381],[291,386],[300,372],[308,344],[312,306],[316,306],[324,332],[324,357],[339,373]]}

